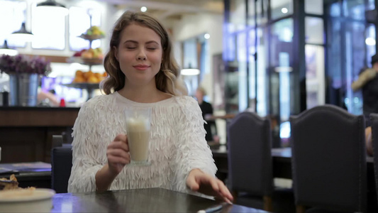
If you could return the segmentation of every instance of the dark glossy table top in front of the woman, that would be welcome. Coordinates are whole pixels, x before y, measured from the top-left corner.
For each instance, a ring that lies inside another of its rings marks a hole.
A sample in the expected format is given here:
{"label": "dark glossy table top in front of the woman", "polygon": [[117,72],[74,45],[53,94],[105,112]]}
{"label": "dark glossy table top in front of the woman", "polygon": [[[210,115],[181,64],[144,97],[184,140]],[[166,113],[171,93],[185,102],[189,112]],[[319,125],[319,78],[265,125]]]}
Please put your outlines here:
{"label": "dark glossy table top in front of the woman", "polygon": [[[52,212],[198,212],[218,204],[221,202],[162,188],[149,188],[56,194],[52,197]],[[218,212],[265,211],[224,204]]]}

